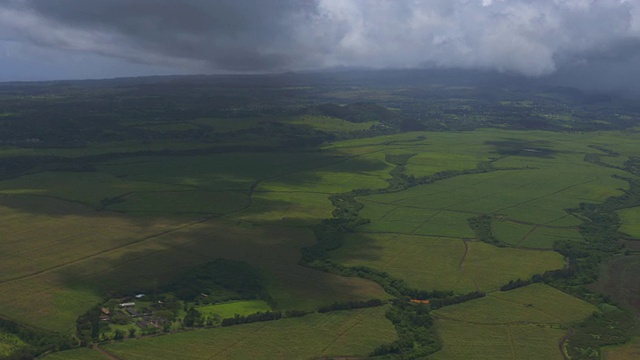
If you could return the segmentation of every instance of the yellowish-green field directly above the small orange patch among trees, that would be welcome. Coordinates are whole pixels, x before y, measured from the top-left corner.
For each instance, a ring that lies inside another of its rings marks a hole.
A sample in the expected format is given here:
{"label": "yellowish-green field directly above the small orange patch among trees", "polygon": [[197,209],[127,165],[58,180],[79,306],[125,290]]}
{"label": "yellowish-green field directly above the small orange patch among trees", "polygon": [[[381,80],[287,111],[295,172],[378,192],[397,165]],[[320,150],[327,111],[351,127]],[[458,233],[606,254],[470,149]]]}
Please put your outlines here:
{"label": "yellowish-green field directly above the small orange patch among trees", "polygon": [[420,289],[457,292],[493,290],[564,265],[562,257],[550,251],[395,234],[352,235],[332,257],[345,265],[387,271]]}

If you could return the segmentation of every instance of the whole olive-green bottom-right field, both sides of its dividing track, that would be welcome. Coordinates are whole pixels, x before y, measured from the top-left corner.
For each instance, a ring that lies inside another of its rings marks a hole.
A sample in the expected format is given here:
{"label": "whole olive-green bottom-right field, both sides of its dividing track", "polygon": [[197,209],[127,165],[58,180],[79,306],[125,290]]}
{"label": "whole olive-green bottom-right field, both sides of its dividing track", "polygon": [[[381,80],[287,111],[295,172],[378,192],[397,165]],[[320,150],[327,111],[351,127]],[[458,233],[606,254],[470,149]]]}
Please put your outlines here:
{"label": "whole olive-green bottom-right field, both sides of its dividing track", "polygon": [[562,359],[564,328],[596,307],[533,284],[434,312],[443,349],[435,359]]}

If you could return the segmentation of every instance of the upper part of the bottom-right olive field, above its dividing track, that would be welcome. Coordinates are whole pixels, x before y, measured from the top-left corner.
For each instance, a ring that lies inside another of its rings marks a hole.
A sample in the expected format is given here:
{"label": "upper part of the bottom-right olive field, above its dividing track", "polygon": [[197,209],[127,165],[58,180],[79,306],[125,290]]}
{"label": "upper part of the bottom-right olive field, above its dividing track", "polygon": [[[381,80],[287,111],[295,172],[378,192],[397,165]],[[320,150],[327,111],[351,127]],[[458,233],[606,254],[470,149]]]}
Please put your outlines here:
{"label": "upper part of the bottom-right olive field, above its dividing track", "polygon": [[596,310],[595,306],[548,285],[532,284],[447,306],[436,310],[434,316],[476,325],[568,325],[587,318]]}

